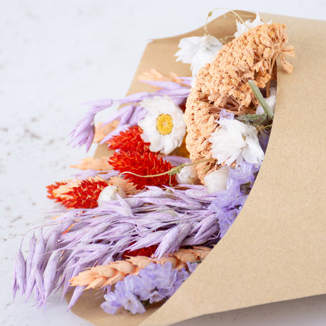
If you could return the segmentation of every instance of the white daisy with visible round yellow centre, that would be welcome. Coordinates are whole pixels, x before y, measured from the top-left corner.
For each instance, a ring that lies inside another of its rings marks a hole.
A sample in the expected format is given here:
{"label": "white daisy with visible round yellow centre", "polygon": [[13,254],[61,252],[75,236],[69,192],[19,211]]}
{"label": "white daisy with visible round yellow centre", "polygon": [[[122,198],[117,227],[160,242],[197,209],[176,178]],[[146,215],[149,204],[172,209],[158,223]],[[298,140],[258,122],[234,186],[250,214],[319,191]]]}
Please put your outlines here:
{"label": "white daisy with visible round yellow centre", "polygon": [[144,142],[150,142],[152,152],[171,153],[179,147],[186,135],[184,113],[172,99],[154,96],[140,103],[147,109],[147,116],[138,121]]}

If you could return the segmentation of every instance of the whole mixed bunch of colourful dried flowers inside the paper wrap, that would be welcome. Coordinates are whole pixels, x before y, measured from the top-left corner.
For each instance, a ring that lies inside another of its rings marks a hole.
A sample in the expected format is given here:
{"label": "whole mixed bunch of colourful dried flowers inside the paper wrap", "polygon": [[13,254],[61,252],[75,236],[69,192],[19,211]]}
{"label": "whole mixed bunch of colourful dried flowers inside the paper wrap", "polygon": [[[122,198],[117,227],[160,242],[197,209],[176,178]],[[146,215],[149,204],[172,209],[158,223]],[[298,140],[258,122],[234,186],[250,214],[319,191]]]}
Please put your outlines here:
{"label": "whole mixed bunch of colourful dried flowers inside the paper wrap", "polygon": [[[211,16],[211,13],[209,14]],[[106,144],[111,157],[86,158],[76,179],[47,187],[66,210],[33,232],[16,258],[13,293],[38,306],[52,291],[69,308],[101,289],[106,313],[144,313],[174,294],[230,228],[264,159],[276,102],[276,59],[285,57],[286,26],[237,21],[232,41],[213,35],[181,40],[177,60],[192,77],[155,69],[153,86],[124,99],[89,104],[71,145]],[[95,127],[96,113],[122,106]],[[43,230],[46,230],[45,232]]]}

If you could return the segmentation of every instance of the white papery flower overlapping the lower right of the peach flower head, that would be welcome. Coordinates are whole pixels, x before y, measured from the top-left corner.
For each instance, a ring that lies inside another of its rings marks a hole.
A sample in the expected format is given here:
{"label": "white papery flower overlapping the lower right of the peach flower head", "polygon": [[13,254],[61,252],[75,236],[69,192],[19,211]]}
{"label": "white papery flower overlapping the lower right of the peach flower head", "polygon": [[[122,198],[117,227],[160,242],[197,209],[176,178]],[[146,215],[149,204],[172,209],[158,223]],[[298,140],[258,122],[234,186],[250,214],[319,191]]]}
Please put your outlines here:
{"label": "white papery flower overlapping the lower right of the peach flower head", "polygon": [[220,128],[209,138],[218,164],[230,165],[235,161],[237,167],[243,161],[257,166],[262,164],[264,152],[254,126],[232,119],[221,119],[218,123]]}

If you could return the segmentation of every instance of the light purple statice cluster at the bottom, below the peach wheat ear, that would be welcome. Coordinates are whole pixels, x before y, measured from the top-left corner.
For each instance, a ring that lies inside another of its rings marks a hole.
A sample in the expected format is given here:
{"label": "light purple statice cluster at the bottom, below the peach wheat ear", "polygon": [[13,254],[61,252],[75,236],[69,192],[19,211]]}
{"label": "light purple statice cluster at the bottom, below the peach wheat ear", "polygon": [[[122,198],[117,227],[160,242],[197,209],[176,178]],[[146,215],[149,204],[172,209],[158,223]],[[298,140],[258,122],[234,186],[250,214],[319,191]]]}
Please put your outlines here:
{"label": "light purple statice cluster at the bottom, below the peach wheat ear", "polygon": [[145,313],[144,305],[156,303],[169,298],[189,277],[197,264],[189,264],[186,269],[172,269],[172,264],[150,264],[141,269],[137,275],[126,276],[116,283],[115,291],[107,293],[101,308],[110,314],[125,309],[131,313]]}

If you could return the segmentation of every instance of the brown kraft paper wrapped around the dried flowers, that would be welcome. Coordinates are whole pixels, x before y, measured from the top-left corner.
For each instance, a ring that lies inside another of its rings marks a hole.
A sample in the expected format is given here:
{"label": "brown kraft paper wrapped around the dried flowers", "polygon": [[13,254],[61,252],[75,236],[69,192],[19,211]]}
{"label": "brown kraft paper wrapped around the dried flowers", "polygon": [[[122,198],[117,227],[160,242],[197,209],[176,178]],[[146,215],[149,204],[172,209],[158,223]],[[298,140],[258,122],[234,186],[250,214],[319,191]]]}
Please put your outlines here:
{"label": "brown kraft paper wrapped around the dried flowers", "polygon": [[[245,19],[254,14],[239,12]],[[199,315],[326,293],[325,67],[326,22],[262,13],[285,23],[296,58],[293,73],[279,69],[273,129],[253,189],[223,240],[158,310],[107,315],[101,298],[85,293],[72,309],[94,325],[171,325]],[[208,25],[218,38],[235,32],[235,18]],[[155,68],[189,75],[175,62],[181,38],[152,40],[128,94],[145,90],[137,76]],[[107,153],[99,147],[96,155]],[[99,295],[98,295],[99,296]],[[154,312],[154,313],[153,313]]]}

